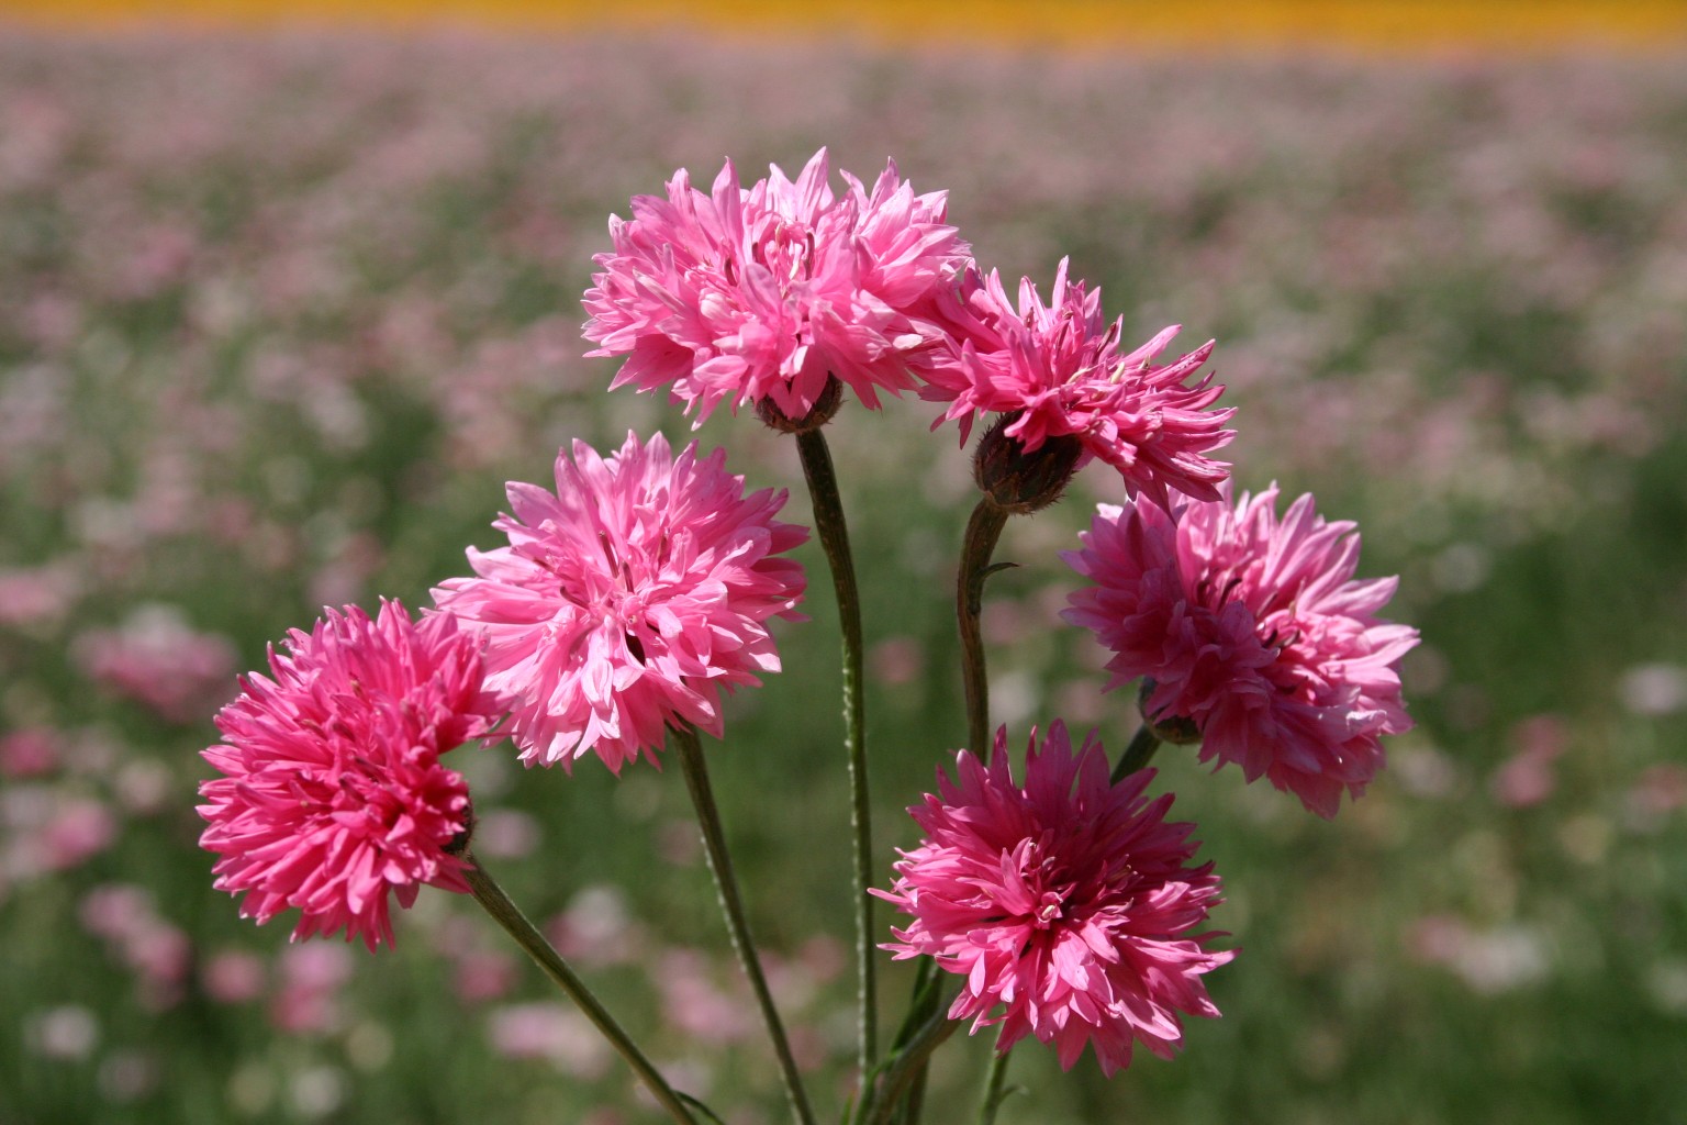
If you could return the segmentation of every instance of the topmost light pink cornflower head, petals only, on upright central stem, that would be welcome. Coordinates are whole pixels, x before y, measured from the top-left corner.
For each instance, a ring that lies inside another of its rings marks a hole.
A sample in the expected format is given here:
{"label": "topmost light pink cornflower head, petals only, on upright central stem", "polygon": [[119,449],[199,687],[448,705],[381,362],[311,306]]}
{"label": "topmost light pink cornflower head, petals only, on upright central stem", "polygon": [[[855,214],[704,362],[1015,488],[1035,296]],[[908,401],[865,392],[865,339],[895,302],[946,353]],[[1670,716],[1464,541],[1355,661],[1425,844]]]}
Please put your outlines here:
{"label": "topmost light pink cornflower head, petals only, on upright central stem", "polygon": [[611,388],[670,388],[697,422],[722,401],[771,400],[801,418],[837,376],[870,408],[914,386],[935,346],[918,317],[967,261],[945,192],[916,196],[889,164],[869,192],[827,184],[827,150],[793,184],[778,167],[749,189],[729,160],[710,194],[680,169],[666,197],[636,196],[609,219],[614,251],[584,304],[589,356],[628,356]]}

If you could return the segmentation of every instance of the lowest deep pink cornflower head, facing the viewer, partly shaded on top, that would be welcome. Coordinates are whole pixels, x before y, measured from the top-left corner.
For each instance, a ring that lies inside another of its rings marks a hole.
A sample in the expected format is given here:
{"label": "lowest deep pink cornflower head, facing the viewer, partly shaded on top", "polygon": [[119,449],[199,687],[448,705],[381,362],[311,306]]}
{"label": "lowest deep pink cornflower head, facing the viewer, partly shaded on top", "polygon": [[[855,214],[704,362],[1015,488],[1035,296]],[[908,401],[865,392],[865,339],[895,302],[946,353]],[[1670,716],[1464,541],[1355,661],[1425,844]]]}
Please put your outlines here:
{"label": "lowest deep pink cornflower head, facing the viewer, partly shaded on top", "polygon": [[1031,734],[1024,788],[1005,729],[989,767],[962,751],[955,774],[908,810],[924,840],[903,852],[891,892],[874,892],[914,919],[886,950],[965,978],[950,1019],[1000,1025],[997,1052],[1036,1036],[1066,1069],[1095,1044],[1112,1074],[1135,1042],[1171,1058],[1179,1014],[1218,1015],[1201,975],[1235,953],[1189,934],[1218,904],[1218,877],[1188,865],[1194,825],[1166,823],[1171,794],[1142,796],[1154,771],[1112,784],[1095,735],[1073,757],[1054,722],[1041,752]]}

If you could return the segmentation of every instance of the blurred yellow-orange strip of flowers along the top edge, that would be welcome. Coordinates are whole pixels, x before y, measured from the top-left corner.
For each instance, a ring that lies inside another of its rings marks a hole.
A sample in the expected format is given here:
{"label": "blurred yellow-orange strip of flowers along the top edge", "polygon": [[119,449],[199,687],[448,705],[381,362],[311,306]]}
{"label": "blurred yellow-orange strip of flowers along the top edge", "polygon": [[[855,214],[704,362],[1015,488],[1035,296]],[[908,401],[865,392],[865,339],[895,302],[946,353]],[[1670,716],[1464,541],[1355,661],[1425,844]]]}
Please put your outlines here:
{"label": "blurred yellow-orange strip of flowers along the top edge", "polygon": [[882,46],[1345,46],[1366,51],[1680,49],[1687,0],[0,0],[0,22],[54,29],[213,27],[698,27],[847,35]]}

